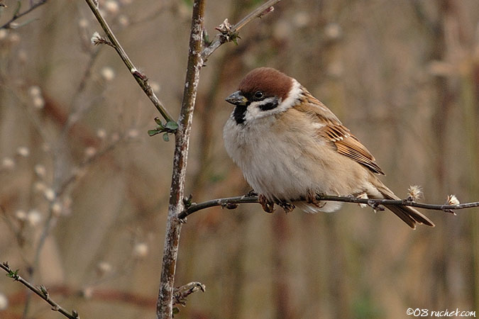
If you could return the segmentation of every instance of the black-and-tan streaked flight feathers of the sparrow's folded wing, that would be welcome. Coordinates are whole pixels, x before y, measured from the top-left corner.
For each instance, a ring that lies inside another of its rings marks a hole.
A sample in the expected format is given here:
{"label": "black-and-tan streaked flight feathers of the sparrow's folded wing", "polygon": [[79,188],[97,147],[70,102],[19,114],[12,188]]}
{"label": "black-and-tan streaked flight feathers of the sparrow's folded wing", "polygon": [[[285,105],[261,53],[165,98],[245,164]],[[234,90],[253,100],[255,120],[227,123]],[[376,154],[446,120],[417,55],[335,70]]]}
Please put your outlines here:
{"label": "black-and-tan streaked flight feathers of the sparrow's folded wing", "polygon": [[354,159],[376,174],[384,175],[382,169],[376,164],[374,156],[349,132],[348,128],[340,123],[328,123],[319,129],[319,134],[334,143],[338,153]]}

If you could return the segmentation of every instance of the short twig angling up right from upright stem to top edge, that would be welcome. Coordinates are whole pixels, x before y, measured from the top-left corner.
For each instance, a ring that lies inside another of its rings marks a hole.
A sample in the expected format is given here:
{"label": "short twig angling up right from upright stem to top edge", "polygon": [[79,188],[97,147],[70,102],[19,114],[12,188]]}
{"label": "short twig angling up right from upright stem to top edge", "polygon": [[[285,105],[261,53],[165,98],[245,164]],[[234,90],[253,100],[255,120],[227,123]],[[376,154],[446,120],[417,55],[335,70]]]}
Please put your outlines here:
{"label": "short twig angling up right from upright stem to top edge", "polygon": [[206,62],[208,60],[208,57],[217,49],[219,48],[222,44],[231,41],[233,38],[237,37],[238,31],[243,28],[243,26],[246,26],[247,23],[253,21],[255,18],[261,18],[265,13],[269,12],[269,9],[280,2],[281,0],[268,0],[261,6],[258,6],[253,12],[249,13],[248,16],[244,17],[236,23],[234,26],[231,27],[231,30],[229,30],[229,35],[233,36],[225,36],[223,33],[219,33],[216,35],[216,39],[207,47],[204,48],[202,51],[202,58],[203,62]]}

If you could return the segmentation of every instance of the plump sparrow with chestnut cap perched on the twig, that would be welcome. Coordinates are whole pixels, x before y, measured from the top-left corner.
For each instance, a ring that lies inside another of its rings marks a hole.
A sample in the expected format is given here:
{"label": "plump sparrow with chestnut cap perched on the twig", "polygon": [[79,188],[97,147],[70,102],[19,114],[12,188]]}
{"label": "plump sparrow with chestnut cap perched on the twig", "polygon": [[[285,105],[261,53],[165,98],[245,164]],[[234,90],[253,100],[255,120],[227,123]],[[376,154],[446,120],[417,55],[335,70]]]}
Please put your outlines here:
{"label": "plump sparrow with chestnut cap perched on the twig", "polygon": [[[341,203],[316,195],[400,199],[377,175],[375,158],[329,108],[296,79],[270,67],[253,69],[226,98],[226,152],[258,194],[263,209],[333,212]],[[385,205],[409,227],[434,227],[407,206]]]}

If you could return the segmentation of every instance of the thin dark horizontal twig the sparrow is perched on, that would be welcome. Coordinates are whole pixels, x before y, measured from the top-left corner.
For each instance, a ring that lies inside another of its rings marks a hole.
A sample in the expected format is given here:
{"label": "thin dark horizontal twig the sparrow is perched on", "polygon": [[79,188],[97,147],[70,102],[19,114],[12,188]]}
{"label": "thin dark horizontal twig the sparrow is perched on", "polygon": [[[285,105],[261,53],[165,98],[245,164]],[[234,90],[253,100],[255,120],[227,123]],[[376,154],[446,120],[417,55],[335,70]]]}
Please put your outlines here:
{"label": "thin dark horizontal twig the sparrow is perched on", "polygon": [[[345,203],[361,203],[368,206],[376,207],[378,205],[390,205],[390,206],[412,206],[417,208],[426,208],[434,211],[446,211],[448,213],[453,213],[453,210],[463,209],[463,208],[472,208],[479,207],[479,201],[473,203],[461,203],[457,205],[436,205],[429,203],[417,203],[416,201],[409,201],[407,199],[371,199],[371,198],[357,198],[353,196],[326,196],[326,195],[317,195],[316,199],[318,201],[341,201]],[[224,208],[233,209],[238,207],[238,204],[241,203],[259,203],[258,196],[236,196],[228,198],[217,198],[211,201],[204,201],[202,203],[192,203],[188,206],[178,218],[184,219],[187,216],[191,215],[196,211],[201,211],[202,209],[221,206]]]}

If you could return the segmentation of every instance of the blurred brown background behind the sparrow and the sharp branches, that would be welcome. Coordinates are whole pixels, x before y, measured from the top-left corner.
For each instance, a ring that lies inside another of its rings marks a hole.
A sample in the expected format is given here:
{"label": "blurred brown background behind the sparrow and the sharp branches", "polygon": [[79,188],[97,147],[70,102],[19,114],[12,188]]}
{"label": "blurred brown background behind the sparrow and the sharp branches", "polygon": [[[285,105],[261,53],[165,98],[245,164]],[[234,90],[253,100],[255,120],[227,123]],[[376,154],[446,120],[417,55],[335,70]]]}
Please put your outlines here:
{"label": "blurred brown background behind the sparrow and the sharp branches", "polygon": [[[20,12],[30,1],[19,1]],[[34,3],[35,1],[33,1]],[[263,1],[207,1],[206,27]],[[17,1],[4,0],[0,26]],[[192,1],[100,1],[165,107],[180,108]],[[0,30],[0,261],[81,318],[154,318],[174,142],[106,45],[84,1],[49,0]],[[375,155],[398,196],[479,200],[479,2],[281,1],[202,69],[187,194],[246,194],[226,155],[225,96],[254,67],[295,77]],[[182,228],[175,284],[200,281],[176,318],[407,318],[479,311],[479,209],[309,215],[209,208]],[[0,318],[62,318],[0,276]]]}

